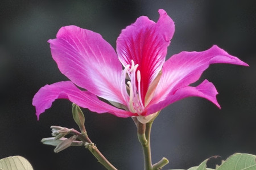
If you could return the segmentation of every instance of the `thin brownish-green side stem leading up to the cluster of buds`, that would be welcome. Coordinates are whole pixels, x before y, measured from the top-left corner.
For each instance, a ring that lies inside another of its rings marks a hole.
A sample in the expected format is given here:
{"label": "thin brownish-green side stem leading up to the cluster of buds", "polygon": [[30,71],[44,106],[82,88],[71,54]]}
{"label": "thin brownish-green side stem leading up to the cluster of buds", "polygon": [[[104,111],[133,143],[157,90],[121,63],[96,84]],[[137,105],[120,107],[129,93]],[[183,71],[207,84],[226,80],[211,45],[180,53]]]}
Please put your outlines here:
{"label": "thin brownish-green side stem leading up to the cluster of buds", "polygon": [[77,135],[77,138],[80,139],[82,142],[85,143],[85,148],[88,148],[90,152],[92,152],[93,156],[100,162],[106,169],[109,170],[117,170],[106,158],[104,155],[101,154],[101,152],[98,150],[98,148],[90,141],[90,138],[84,131],[80,133],[79,131],[73,129],[71,131],[71,134]]}

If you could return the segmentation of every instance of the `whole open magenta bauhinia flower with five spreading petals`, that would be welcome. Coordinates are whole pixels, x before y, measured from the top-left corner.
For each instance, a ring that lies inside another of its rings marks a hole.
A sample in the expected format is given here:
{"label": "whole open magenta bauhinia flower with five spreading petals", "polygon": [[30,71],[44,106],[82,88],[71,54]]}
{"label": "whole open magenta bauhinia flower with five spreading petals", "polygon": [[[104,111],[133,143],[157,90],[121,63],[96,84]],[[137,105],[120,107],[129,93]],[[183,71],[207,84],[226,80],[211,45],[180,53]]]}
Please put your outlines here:
{"label": "whole open magenta bauhinia flower with five spreading petals", "polygon": [[218,92],[207,79],[196,87],[189,85],[212,63],[248,65],[216,45],[165,61],[175,27],[166,11],[159,14],[156,23],[141,16],[123,29],[117,53],[98,33],[75,25],[60,28],[57,38],[48,42],[59,70],[71,81],[40,88],[32,102],[38,118],[56,99],[68,99],[92,112],[136,116],[142,123],[185,97],[203,97],[220,108]]}

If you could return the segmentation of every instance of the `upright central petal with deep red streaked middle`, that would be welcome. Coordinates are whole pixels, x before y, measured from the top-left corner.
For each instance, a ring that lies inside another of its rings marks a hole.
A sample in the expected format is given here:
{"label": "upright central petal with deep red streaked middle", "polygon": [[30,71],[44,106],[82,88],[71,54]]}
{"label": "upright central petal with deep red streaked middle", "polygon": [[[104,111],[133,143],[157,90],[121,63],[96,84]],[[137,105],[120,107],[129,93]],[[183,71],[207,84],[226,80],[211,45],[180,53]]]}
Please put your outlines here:
{"label": "upright central petal with deep red streaked middle", "polygon": [[131,65],[131,59],[141,71],[142,100],[147,88],[162,69],[167,46],[174,35],[174,22],[166,11],[159,10],[157,23],[141,16],[134,24],[122,30],[117,39],[117,54],[123,66]]}

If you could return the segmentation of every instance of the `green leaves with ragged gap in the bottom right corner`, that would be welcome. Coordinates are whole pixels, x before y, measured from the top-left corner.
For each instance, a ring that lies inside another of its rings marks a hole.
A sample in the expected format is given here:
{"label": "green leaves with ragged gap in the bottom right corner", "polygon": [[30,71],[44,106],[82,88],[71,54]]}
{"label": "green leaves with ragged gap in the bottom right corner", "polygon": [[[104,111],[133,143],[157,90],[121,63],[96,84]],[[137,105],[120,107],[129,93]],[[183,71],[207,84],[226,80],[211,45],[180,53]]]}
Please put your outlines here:
{"label": "green leaves with ragged gap in the bottom right corner", "polygon": [[[207,168],[207,162],[209,159],[204,160],[197,167],[189,168],[188,170],[256,170],[256,156],[250,154],[234,154],[229,156],[228,159],[223,160],[221,165],[216,165],[215,169]],[[171,170],[171,169],[170,169]],[[184,170],[184,169],[172,169],[172,170]]]}

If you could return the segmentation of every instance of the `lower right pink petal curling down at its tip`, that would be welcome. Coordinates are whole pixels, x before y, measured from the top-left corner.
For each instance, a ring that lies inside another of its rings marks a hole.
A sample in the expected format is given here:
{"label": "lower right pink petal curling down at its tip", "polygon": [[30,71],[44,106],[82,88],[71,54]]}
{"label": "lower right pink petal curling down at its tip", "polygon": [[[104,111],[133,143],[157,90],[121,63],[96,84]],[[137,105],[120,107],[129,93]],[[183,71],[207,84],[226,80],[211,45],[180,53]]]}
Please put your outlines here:
{"label": "lower right pink petal curling down at its tip", "polygon": [[214,87],[213,83],[208,82],[208,80],[204,80],[204,82],[199,84],[199,86],[197,87],[187,86],[179,88],[173,94],[169,94],[166,100],[160,101],[160,103],[158,104],[150,105],[147,109],[146,115],[160,111],[163,108],[167,107],[167,105],[174,103],[177,100],[181,100],[185,97],[191,96],[203,97],[205,99],[208,99],[209,101],[212,101],[212,103],[214,103],[218,108],[220,108],[220,105],[218,104],[218,101],[216,99],[217,94],[218,92]]}

